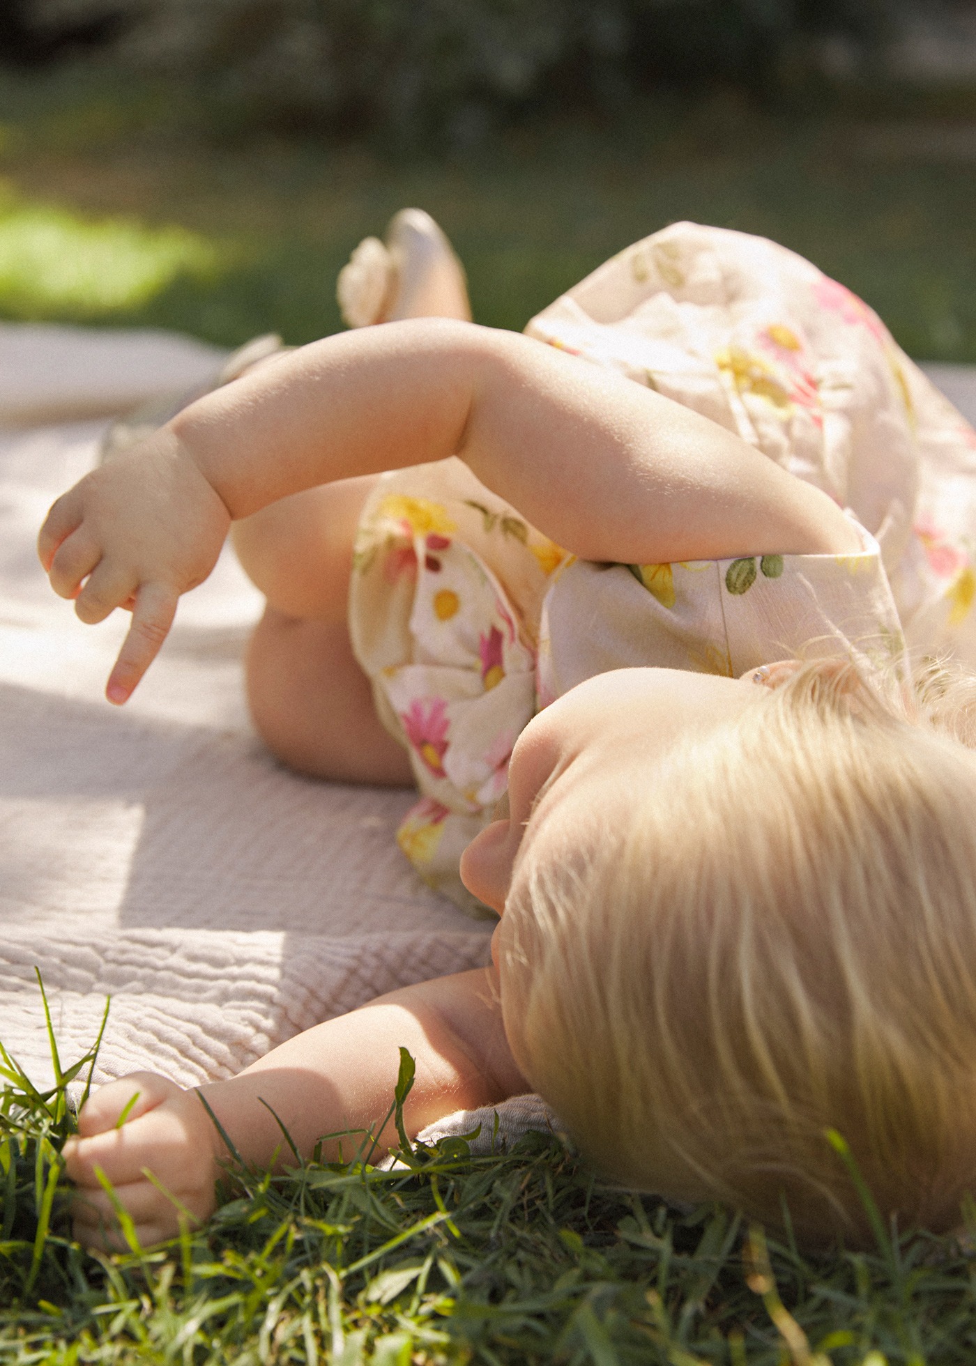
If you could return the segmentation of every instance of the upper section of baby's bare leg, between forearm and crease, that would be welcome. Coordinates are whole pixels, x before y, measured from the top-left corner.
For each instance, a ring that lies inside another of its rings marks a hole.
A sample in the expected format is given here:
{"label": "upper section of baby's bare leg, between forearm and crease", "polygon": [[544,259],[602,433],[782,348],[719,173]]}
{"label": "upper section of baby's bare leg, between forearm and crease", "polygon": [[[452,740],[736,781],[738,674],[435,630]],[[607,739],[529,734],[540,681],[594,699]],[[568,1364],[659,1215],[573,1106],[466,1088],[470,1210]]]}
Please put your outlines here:
{"label": "upper section of baby's bare leg, between forearm and crease", "polygon": [[376,479],[306,489],[234,525],[238,559],[271,607],[317,622],[346,620],[355,529]]}

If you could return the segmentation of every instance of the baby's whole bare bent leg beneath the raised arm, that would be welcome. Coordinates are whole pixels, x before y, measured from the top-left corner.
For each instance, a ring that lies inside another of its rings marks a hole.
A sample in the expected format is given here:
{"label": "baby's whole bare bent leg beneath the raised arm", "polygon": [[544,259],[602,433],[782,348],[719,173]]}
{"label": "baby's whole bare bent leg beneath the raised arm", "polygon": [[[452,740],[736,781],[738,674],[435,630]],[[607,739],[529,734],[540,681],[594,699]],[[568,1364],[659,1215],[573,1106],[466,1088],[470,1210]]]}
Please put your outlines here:
{"label": "baby's whole bare bent leg beneath the raised arm", "polygon": [[376,716],[346,626],[353,540],[373,478],[344,479],[238,522],[234,546],[268,598],[245,661],[265,744],[301,773],[410,785],[405,750]]}

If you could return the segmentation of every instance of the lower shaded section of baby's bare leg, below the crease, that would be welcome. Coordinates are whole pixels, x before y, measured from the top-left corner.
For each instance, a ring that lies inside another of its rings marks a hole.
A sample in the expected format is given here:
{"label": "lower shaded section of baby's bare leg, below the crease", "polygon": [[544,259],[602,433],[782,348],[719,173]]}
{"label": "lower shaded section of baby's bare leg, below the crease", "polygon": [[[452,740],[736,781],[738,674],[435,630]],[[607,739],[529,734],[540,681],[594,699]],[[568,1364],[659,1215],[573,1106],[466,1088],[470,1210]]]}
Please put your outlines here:
{"label": "lower shaded section of baby's bare leg, below the crease", "polygon": [[406,751],[376,716],[344,622],[269,607],[250,639],[246,675],[254,725],[290,768],[339,783],[413,784]]}

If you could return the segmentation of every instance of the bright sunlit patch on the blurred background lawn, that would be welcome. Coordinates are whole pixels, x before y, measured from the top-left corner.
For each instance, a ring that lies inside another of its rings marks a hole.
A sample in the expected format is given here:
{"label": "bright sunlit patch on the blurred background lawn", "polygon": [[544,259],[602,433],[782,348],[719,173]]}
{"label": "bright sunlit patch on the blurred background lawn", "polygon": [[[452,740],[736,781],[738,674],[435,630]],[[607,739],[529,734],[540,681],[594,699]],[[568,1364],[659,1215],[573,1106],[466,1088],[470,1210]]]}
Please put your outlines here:
{"label": "bright sunlit patch on the blurred background lawn", "polygon": [[180,276],[216,279],[220,261],[217,247],[187,228],[0,199],[0,313],[8,317],[126,314]]}

